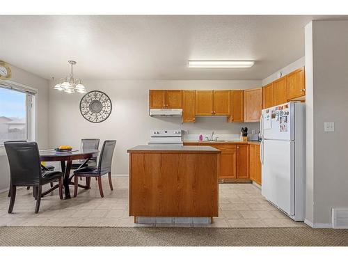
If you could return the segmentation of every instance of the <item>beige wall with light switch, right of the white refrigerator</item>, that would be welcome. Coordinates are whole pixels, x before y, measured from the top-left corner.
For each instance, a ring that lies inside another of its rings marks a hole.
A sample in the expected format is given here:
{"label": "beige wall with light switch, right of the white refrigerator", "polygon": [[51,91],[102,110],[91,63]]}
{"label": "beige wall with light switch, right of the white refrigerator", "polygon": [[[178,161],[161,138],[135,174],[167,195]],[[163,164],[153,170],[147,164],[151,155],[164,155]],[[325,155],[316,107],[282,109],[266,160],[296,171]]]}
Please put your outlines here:
{"label": "beige wall with light switch, right of the white refrigerator", "polygon": [[[319,226],[331,223],[333,207],[348,207],[347,47],[348,21],[313,21],[312,29],[306,27],[306,56],[312,53],[306,58],[306,99],[313,95],[306,114],[307,174],[313,172],[307,188],[313,187],[313,202],[308,198],[306,218]],[[335,122],[335,132],[324,132],[324,122]]]}

